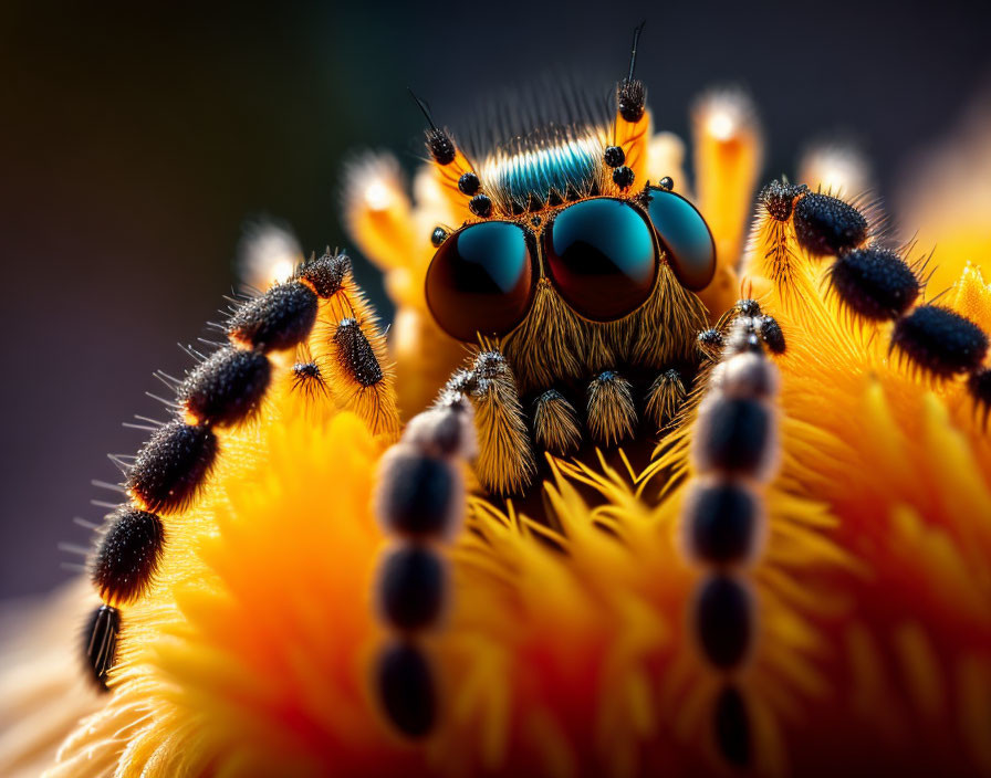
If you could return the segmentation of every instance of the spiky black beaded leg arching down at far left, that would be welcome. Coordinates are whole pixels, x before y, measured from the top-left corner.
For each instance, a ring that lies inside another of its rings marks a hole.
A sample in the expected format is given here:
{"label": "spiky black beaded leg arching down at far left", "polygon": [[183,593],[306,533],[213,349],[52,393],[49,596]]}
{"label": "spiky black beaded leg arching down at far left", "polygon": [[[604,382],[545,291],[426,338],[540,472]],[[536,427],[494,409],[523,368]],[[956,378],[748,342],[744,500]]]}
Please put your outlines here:
{"label": "spiky black beaded leg arching down at far left", "polygon": [[[218,325],[227,343],[217,344],[209,356],[188,349],[198,364],[184,380],[160,376],[176,392],[175,401],[166,401],[175,416],[153,428],[133,461],[119,460],[126,502],[107,516],[90,559],[90,578],[103,604],[91,617],[83,648],[100,687],[106,688],[116,658],[121,609],[154,584],[169,524],[199,498],[222,451],[222,434],[260,412],[273,374],[288,367],[288,355],[281,353],[305,345],[321,306],[348,294],[350,283],[343,254],[327,252],[304,262],[289,281],[233,301],[237,307]],[[373,350],[365,346],[357,343],[352,351]]]}

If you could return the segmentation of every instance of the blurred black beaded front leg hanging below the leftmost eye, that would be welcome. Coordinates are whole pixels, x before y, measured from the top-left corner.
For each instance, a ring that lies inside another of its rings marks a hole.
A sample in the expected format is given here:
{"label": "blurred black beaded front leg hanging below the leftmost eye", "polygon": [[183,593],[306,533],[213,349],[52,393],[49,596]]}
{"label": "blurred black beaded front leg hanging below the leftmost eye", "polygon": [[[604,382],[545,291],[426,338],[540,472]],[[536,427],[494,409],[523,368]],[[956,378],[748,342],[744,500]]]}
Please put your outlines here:
{"label": "blurred black beaded front leg hanging below the leftmost eye", "polygon": [[375,599],[395,638],[376,656],[373,684],[386,721],[409,738],[429,735],[439,715],[434,670],[418,638],[437,628],[449,596],[440,546],[465,511],[461,467],[476,451],[465,392],[476,385],[470,372],[457,374],[379,465],[376,513],[396,543],[379,567]]}

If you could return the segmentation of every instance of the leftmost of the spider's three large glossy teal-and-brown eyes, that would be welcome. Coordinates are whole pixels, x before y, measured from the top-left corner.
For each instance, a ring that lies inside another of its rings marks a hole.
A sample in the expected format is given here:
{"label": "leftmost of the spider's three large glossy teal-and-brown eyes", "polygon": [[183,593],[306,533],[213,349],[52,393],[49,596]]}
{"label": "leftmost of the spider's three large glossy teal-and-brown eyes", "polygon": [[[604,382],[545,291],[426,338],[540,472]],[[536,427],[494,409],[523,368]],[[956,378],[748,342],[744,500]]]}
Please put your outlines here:
{"label": "leftmost of the spider's three large glossy teal-and-brown eyes", "polygon": [[448,238],[427,270],[427,305],[458,340],[504,335],[530,307],[533,260],[517,224],[483,222]]}

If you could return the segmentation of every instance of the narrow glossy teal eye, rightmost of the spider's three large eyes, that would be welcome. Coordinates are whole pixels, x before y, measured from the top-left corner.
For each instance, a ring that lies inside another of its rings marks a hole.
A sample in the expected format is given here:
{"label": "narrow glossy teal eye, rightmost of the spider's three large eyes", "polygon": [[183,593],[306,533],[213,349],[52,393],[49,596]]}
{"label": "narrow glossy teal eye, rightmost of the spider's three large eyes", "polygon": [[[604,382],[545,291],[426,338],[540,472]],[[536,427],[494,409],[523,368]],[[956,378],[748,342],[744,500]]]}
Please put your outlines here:
{"label": "narrow glossy teal eye, rightmost of the spider's three large eyes", "polygon": [[716,242],[702,214],[680,195],[647,190],[647,213],[681,285],[706,288],[716,273]]}

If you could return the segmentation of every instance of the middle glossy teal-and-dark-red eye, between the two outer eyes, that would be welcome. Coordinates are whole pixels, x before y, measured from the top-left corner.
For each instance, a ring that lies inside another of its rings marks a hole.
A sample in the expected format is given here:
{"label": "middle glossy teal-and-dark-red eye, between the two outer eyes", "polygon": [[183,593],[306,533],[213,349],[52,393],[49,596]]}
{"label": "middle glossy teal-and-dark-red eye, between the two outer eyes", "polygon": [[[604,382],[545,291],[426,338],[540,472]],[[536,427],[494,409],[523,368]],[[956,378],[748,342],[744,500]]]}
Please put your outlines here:
{"label": "middle glossy teal-and-dark-red eye, between the two outer eyes", "polygon": [[545,236],[547,271],[586,318],[611,322],[643,305],[657,278],[654,238],[643,214],[613,198],[565,208]]}

